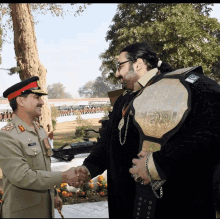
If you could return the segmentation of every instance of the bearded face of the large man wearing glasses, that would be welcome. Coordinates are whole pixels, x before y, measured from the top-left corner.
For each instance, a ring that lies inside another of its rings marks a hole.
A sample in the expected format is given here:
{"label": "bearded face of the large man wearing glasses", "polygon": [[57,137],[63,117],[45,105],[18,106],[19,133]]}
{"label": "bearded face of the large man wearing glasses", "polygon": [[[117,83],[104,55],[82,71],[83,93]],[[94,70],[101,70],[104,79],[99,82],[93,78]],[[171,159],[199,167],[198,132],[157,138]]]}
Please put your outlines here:
{"label": "bearded face of the large man wearing glasses", "polygon": [[130,66],[130,62],[126,62],[127,52],[122,52],[120,56],[118,57],[118,63],[125,62],[124,64],[121,64],[116,72],[116,77],[121,79],[122,88],[126,90],[134,90],[134,83],[139,79],[138,75],[134,71],[133,65]]}

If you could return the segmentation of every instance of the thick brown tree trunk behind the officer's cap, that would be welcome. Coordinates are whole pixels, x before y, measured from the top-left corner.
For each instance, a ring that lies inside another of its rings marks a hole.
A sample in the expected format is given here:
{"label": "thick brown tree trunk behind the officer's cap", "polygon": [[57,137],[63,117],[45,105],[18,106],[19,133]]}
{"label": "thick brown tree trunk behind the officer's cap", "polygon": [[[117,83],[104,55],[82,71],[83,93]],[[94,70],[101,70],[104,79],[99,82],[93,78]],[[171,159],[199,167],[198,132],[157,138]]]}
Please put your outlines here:
{"label": "thick brown tree trunk behind the officer's cap", "polygon": [[[16,3],[9,4],[9,6],[13,21],[14,47],[17,66],[21,69],[19,72],[20,79],[25,80],[33,76],[38,76],[39,86],[47,92],[47,71],[39,60],[30,4]],[[47,134],[52,136],[53,126],[48,98],[46,95],[42,97],[44,105],[39,122],[47,131]]]}

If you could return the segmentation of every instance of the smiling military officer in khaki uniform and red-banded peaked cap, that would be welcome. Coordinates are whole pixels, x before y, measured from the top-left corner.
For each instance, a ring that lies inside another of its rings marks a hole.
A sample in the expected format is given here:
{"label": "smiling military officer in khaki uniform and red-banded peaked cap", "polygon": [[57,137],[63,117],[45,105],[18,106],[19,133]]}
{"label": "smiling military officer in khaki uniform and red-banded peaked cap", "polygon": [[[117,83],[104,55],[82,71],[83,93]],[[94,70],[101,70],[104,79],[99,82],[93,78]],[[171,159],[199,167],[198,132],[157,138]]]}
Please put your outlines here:
{"label": "smiling military officer in khaki uniform and red-banded peaked cap", "polygon": [[41,96],[47,95],[38,86],[38,80],[37,76],[31,77],[3,93],[15,114],[0,130],[3,218],[54,217],[54,205],[58,210],[62,208],[54,187],[62,182],[79,187],[80,181],[88,177],[76,173],[75,168],[51,172],[53,151],[43,126],[35,122],[44,104]]}

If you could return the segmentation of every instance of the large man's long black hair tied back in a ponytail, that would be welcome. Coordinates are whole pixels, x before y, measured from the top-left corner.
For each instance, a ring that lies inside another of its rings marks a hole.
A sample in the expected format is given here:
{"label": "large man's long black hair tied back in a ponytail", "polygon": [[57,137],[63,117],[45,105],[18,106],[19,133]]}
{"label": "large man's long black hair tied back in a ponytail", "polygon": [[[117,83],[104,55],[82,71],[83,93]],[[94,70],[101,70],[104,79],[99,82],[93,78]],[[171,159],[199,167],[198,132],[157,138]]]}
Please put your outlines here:
{"label": "large man's long black hair tied back in a ponytail", "polygon": [[[127,52],[127,59],[132,63],[136,62],[138,58],[141,58],[147,65],[148,71],[153,68],[157,68],[159,58],[154,52],[153,47],[147,42],[130,44],[122,49],[120,53],[122,52]],[[174,71],[174,69],[165,62],[162,62],[161,66],[158,69],[161,73]]]}

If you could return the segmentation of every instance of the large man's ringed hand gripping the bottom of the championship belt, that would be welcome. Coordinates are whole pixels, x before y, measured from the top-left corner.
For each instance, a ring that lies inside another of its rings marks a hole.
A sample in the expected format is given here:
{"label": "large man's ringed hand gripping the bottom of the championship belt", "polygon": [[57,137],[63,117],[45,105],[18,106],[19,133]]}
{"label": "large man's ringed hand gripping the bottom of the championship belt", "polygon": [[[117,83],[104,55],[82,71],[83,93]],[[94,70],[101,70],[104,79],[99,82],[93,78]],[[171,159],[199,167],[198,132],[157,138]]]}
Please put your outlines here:
{"label": "large man's ringed hand gripping the bottom of the championship belt", "polygon": [[[141,151],[138,154],[138,157],[140,159],[133,159],[132,163],[135,166],[133,166],[132,168],[129,169],[129,172],[131,174],[133,174],[133,175],[136,174],[141,178],[141,180],[143,180],[144,185],[147,185],[148,183],[150,183],[149,178],[147,176],[146,166],[145,166],[147,154],[148,153],[146,151]],[[137,178],[135,178],[134,180],[136,181]]]}

